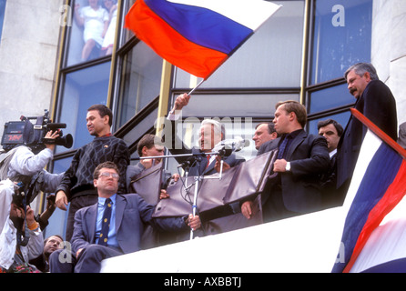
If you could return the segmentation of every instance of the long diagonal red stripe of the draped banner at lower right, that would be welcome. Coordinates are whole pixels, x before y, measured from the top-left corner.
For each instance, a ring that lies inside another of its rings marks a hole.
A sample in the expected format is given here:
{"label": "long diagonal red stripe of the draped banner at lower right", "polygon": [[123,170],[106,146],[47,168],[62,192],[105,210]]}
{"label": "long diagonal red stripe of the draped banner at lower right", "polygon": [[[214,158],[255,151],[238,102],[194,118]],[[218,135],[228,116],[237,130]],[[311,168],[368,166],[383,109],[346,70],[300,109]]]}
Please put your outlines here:
{"label": "long diagonal red stripe of the draped banner at lower right", "polygon": [[403,196],[406,194],[406,161],[403,160],[398,174],[393,180],[391,186],[388,187],[380,202],[371,209],[368,219],[360,232],[360,236],[350,257],[350,262],[344,268],[343,272],[348,273],[356,262],[362,248],[370,238],[372,231],[380,226],[383,218],[391,212],[391,210],[398,205]]}

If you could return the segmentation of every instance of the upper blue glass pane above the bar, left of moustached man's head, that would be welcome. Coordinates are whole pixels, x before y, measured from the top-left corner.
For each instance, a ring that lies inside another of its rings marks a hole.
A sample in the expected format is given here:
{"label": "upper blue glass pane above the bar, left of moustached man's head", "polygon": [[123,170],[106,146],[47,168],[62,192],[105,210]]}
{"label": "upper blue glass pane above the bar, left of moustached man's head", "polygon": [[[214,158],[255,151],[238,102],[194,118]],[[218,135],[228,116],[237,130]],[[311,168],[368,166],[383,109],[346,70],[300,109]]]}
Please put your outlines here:
{"label": "upper blue glass pane above the bar, left of moustached man's head", "polygon": [[372,0],[318,0],[311,84],[339,78],[350,65],[370,62]]}

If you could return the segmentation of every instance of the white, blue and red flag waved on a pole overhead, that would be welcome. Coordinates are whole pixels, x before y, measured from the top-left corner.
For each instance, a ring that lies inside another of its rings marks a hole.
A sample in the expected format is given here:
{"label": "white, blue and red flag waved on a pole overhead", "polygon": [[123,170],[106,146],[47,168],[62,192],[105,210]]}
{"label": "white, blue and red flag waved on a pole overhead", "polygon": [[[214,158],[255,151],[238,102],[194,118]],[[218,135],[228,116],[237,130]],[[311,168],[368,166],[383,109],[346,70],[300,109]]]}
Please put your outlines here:
{"label": "white, blue and red flag waved on a pole overhead", "polygon": [[263,0],[137,0],[125,26],[169,63],[207,79],[278,9]]}

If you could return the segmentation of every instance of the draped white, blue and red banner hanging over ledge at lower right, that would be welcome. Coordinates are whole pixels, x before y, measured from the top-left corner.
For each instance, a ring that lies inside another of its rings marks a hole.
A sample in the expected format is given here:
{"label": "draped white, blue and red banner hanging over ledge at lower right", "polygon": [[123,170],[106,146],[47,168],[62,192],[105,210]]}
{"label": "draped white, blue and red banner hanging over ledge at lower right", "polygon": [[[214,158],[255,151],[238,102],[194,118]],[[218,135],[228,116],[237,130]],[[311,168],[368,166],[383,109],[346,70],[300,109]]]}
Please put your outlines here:
{"label": "draped white, blue and red banner hanging over ledge at lower right", "polygon": [[[390,146],[393,145],[391,138],[365,116],[359,113],[355,116],[369,127],[369,131],[364,138],[349,189],[349,194],[350,191],[356,192],[341,239],[344,259],[336,262],[333,272],[350,272],[373,231],[406,194],[405,152],[396,145]],[[358,170],[363,168],[364,171]],[[359,185],[354,189],[353,184],[356,183]]]}

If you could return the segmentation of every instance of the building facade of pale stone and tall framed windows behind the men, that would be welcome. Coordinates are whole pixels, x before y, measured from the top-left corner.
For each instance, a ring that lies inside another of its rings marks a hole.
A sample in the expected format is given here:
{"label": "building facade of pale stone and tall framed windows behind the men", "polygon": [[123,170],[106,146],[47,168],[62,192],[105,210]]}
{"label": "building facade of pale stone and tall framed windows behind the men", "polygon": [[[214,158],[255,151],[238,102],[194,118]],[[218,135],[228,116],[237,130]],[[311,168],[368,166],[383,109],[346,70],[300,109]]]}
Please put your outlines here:
{"label": "building facade of pale stone and tall framed windows behind the men", "polygon": [[[48,169],[66,170],[76,148],[92,137],[86,109],[109,106],[113,132],[132,156],[146,133],[162,133],[163,120],[178,94],[200,81],[168,64],[124,28],[134,0],[99,1],[108,30],[86,48],[87,0],[0,0],[0,122],[43,115],[66,123],[74,146],[57,146]],[[271,121],[280,100],[306,105],[306,130],[333,118],[345,126],[355,99],[343,78],[358,62],[371,62],[397,100],[399,124],[406,121],[406,2],[403,0],[285,0],[282,7],[192,95],[180,132],[190,145],[204,118],[218,118],[227,138],[251,139],[255,125]],[[165,129],[165,127],[164,127]],[[0,128],[3,134],[3,128]],[[243,152],[256,156],[253,143]],[[132,163],[134,163],[133,161]],[[171,159],[167,167],[176,166]],[[45,196],[37,199],[44,209]],[[65,234],[66,213],[56,210],[46,235]]]}

